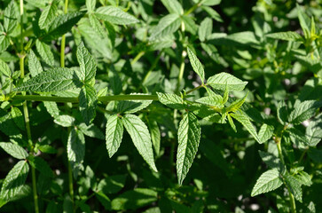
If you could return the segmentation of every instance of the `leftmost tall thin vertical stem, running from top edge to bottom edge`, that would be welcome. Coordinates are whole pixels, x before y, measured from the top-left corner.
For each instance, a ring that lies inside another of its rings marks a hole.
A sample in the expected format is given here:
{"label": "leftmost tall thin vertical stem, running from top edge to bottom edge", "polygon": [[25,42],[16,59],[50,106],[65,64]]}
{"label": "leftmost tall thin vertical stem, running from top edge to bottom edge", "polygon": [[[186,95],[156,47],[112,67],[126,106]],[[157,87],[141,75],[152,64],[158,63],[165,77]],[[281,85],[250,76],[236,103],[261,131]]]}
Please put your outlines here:
{"label": "leftmost tall thin vertical stem, running from top edge to bottom edge", "polygon": [[[23,0],[20,0],[20,78],[23,79],[25,77],[25,51],[23,47],[24,39],[23,39]],[[26,93],[22,93],[24,96]],[[31,130],[30,130],[30,123],[29,123],[29,113],[27,108],[27,101],[23,103],[23,114],[25,118],[26,130],[27,130],[27,140],[28,145],[30,146],[30,154],[34,154],[34,145],[31,138]],[[37,187],[35,184],[35,168],[31,167],[31,179],[33,185],[33,195],[34,195],[34,204],[35,204],[35,213],[39,213],[38,207],[38,194],[37,194]]]}

